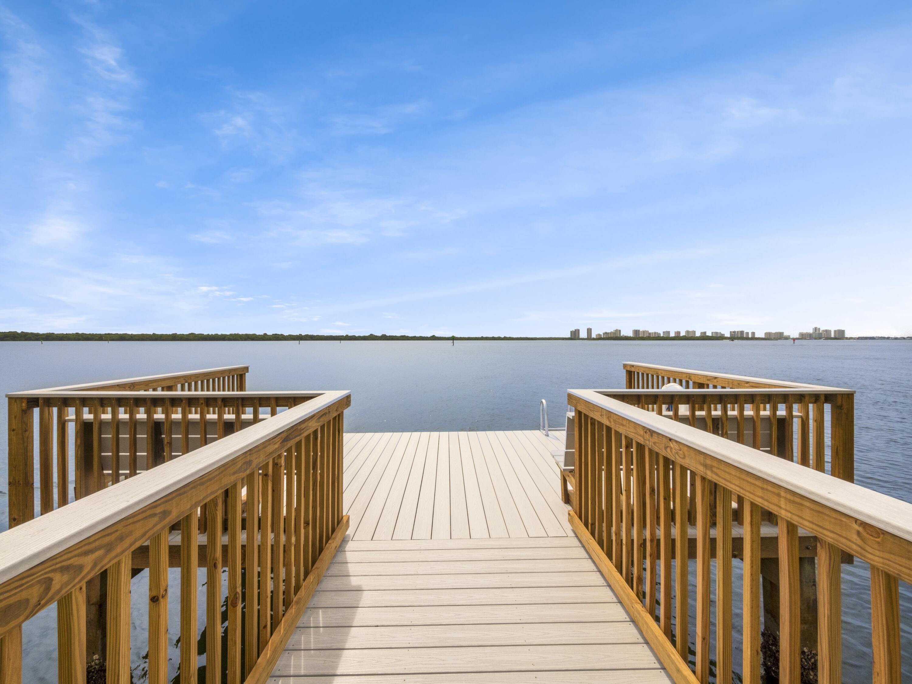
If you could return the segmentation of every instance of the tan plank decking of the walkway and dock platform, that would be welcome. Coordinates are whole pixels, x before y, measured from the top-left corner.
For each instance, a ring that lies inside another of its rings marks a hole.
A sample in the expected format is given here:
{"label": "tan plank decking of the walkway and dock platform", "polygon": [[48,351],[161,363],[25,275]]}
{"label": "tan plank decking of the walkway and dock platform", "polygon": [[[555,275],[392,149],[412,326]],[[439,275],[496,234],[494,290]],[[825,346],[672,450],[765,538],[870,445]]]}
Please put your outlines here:
{"label": "tan plank decking of the walkway and dock platform", "polygon": [[349,434],[344,465],[349,534],[273,684],[671,681],[566,522],[540,432]]}

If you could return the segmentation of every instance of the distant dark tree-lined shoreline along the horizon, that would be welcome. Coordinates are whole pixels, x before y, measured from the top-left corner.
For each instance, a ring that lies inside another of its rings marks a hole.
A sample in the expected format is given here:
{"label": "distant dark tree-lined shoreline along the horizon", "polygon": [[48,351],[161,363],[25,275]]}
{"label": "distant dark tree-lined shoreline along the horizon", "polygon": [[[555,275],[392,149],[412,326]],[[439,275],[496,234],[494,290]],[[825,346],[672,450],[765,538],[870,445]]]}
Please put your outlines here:
{"label": "distant dark tree-lined shoreline along the horizon", "polygon": [[[0,332],[0,342],[336,342],[338,340],[370,341],[370,342],[395,342],[395,341],[427,341],[446,342],[460,341],[522,341],[522,340],[566,340],[568,342],[692,342],[692,341],[730,341],[730,337],[600,337],[593,339],[576,339],[570,337],[442,337],[436,335],[280,335],[257,333],[29,333],[8,331]],[[749,337],[734,339],[735,342],[784,342],[784,340],[766,339],[765,337]],[[908,339],[908,337],[856,337],[855,339]],[[802,342],[818,341],[844,341],[844,340],[801,340]]]}

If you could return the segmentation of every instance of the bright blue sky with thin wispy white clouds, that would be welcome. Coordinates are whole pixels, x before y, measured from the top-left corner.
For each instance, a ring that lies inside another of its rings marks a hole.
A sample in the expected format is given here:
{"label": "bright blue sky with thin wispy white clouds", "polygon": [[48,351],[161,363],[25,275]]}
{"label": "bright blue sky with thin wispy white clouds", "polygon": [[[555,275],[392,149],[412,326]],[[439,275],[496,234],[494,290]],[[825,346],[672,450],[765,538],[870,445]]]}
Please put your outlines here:
{"label": "bright blue sky with thin wispy white clouds", "polygon": [[912,334],[912,7],[0,0],[0,329]]}

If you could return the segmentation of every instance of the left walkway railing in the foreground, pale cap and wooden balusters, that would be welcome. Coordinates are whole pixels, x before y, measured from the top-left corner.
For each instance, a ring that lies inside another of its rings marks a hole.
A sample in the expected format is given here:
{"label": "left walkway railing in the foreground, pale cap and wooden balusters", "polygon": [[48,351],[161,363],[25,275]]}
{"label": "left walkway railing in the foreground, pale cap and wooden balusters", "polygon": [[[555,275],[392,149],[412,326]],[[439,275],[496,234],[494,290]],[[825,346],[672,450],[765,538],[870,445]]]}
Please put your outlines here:
{"label": "left walkway railing in the foreground, pale cap and wooden balusters", "polygon": [[[192,457],[0,534],[0,682],[22,681],[22,625],[54,603],[58,679],[86,680],[87,586],[104,574],[107,681],[128,684],[130,578],[137,567],[149,567],[149,681],[166,682],[172,564],[181,568],[181,682],[196,682],[201,532],[206,681],[223,681],[223,662],[230,684],[265,681],[347,529],[342,421],[350,400],[348,392],[318,393]],[[177,554],[171,553],[174,529],[180,529]]]}

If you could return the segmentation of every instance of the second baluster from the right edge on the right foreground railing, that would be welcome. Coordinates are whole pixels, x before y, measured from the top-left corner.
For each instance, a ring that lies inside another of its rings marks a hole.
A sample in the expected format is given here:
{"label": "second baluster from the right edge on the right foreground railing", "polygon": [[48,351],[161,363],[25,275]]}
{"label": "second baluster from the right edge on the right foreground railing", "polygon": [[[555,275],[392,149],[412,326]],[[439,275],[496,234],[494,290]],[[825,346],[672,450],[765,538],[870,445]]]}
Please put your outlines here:
{"label": "second baluster from the right edge on the right foreground railing", "polygon": [[843,596],[840,556],[841,552],[838,547],[823,539],[817,540],[817,681],[819,684],[841,684],[843,680]]}

